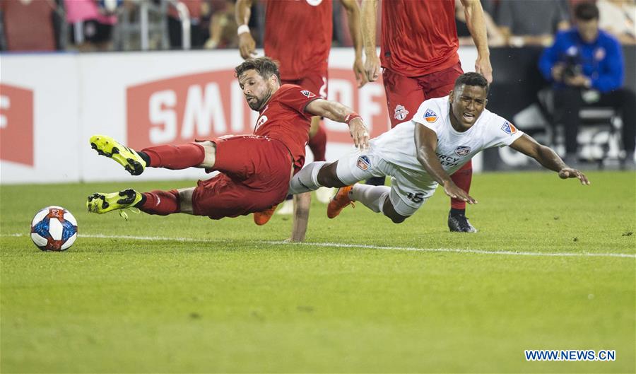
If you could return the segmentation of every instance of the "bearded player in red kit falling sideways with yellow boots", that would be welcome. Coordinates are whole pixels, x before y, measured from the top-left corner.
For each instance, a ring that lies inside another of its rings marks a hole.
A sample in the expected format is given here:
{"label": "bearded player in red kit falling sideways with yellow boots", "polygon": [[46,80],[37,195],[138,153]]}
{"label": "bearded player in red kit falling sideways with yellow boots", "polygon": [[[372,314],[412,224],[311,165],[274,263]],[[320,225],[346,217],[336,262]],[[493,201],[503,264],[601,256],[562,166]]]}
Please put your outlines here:
{"label": "bearded player in red kit falling sideways with yellow boots", "polygon": [[271,59],[247,59],[235,72],[247,104],[260,113],[252,135],[141,151],[109,136],[90,138],[100,155],[117,161],[132,175],[143,173],[146,167],[205,168],[208,172],[218,170],[218,175],[200,180],[192,188],[92,194],[86,203],[88,211],[103,214],[134,206],[148,214],[187,213],[212,219],[264,211],[285,199],[290,178],[305,163],[312,115],[347,123],[355,146],[368,146],[369,134],[359,115],[300,86],[281,86],[278,67]]}

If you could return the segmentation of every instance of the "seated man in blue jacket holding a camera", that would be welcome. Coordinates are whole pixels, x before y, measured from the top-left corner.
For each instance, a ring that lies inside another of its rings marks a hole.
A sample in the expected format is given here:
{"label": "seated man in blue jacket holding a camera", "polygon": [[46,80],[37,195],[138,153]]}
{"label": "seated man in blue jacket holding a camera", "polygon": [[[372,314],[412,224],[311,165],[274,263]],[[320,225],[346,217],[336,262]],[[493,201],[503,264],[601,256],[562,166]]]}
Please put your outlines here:
{"label": "seated man in blue jacket holding a camera", "polygon": [[539,69],[554,83],[555,115],[565,126],[566,162],[577,159],[579,110],[588,106],[613,107],[623,119],[625,165],[634,168],[636,95],[623,88],[623,52],[616,38],[599,30],[599,8],[580,3],[575,28],[558,33],[543,51]]}

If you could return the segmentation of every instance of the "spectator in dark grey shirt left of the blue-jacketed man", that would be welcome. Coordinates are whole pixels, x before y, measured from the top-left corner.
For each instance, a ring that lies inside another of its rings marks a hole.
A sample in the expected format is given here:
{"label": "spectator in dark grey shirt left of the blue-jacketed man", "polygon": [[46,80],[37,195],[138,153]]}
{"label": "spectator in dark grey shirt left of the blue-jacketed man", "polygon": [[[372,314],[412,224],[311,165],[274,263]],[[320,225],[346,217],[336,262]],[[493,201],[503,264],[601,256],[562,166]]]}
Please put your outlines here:
{"label": "spectator in dark grey shirt left of the blue-jacketed man", "polygon": [[570,27],[565,0],[500,1],[497,25],[507,45],[550,45],[558,30]]}

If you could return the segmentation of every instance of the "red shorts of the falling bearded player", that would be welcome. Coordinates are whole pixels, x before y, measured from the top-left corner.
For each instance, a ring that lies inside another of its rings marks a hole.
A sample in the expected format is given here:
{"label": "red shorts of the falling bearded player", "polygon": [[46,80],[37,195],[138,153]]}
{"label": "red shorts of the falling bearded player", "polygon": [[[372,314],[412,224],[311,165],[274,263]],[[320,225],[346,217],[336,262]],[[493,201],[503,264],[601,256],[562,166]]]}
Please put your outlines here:
{"label": "red shorts of the falling bearded player", "polygon": [[212,219],[264,211],[283,201],[289,189],[292,158],[285,145],[265,136],[228,136],[212,140],[220,174],[199,180],[192,195],[197,216]]}

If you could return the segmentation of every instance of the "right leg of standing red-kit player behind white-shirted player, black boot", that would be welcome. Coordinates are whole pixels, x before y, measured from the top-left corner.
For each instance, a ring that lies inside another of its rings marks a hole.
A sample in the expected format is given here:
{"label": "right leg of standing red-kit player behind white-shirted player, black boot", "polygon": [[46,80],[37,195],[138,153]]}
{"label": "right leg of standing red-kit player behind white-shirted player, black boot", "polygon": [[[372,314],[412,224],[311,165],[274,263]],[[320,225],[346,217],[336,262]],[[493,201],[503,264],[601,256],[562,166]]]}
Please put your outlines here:
{"label": "right leg of standing red-kit player behind white-shirted player, black boot", "polygon": [[[426,98],[441,98],[442,96],[447,96],[453,89],[455,80],[461,74],[464,74],[464,71],[461,70],[461,64],[458,62],[448,69],[437,71],[423,77],[421,83],[425,88]],[[472,161],[469,161],[466,165],[453,173],[451,179],[457,187],[464,189],[466,192],[470,192],[471,182],[473,180]],[[477,232],[477,229],[474,228],[468,221],[468,218],[466,218],[466,201],[451,199],[451,209],[448,213],[448,228],[451,231],[460,233]]]}

